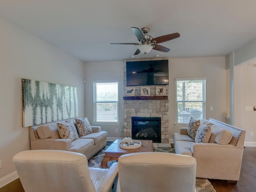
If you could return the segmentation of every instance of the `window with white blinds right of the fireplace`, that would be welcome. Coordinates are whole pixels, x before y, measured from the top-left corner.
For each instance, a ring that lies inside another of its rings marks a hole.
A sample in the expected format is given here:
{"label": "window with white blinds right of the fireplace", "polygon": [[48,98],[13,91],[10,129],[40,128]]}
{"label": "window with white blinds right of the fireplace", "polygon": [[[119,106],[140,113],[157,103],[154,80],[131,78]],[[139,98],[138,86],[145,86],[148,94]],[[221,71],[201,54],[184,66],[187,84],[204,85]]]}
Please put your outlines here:
{"label": "window with white blinds right of the fireplace", "polygon": [[176,78],[176,122],[205,118],[205,78]]}

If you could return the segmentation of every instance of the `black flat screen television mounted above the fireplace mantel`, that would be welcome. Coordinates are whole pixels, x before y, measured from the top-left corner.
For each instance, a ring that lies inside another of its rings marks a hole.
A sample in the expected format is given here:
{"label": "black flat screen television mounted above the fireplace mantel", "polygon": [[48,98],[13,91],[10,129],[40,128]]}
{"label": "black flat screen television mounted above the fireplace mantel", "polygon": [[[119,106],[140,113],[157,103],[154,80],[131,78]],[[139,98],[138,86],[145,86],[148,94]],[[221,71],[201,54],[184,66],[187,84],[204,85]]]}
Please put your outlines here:
{"label": "black flat screen television mounted above the fireplace mantel", "polygon": [[168,60],[126,62],[127,86],[168,85]]}

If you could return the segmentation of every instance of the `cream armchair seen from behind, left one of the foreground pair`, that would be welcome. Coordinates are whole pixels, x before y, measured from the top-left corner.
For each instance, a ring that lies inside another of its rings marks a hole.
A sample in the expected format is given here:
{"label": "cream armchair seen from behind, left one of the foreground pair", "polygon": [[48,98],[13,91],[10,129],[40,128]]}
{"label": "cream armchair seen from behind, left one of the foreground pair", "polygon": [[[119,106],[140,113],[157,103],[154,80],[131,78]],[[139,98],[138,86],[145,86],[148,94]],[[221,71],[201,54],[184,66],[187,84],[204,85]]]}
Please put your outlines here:
{"label": "cream armchair seen from behind, left one of the foreground pair", "polygon": [[86,156],[69,151],[22,151],[13,163],[26,192],[110,192],[118,177],[117,163],[88,168]]}

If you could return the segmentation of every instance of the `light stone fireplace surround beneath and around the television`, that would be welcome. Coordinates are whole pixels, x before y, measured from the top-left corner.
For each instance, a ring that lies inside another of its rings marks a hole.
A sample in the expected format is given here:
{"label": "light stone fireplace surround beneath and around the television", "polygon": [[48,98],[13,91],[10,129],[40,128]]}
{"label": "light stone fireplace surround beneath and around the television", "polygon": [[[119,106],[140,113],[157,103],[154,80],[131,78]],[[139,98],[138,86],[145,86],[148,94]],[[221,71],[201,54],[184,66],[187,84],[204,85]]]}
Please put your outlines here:
{"label": "light stone fireplace surround beneath and around the television", "polygon": [[[160,60],[157,59],[139,59],[143,60]],[[126,87],[126,61],[124,64],[124,86]],[[138,61],[138,60],[136,60]],[[140,87],[134,86],[135,96],[124,96],[124,136],[132,138],[132,117],[139,118],[160,118],[160,140],[159,143],[169,143],[169,116],[168,116],[168,85],[165,85],[166,96],[156,96],[156,86],[150,87],[151,96],[140,96]],[[151,139],[150,139],[151,140]],[[156,141],[155,141],[156,142]]]}

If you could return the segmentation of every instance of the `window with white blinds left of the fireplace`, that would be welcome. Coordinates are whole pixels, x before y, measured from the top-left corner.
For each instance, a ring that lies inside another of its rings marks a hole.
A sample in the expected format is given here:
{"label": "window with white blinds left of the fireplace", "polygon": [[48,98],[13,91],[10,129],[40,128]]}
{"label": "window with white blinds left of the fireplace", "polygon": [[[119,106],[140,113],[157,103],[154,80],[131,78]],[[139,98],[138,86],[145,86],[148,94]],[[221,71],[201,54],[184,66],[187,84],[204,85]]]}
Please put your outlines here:
{"label": "window with white blinds left of the fireplace", "polygon": [[94,122],[118,122],[118,82],[93,82]]}

